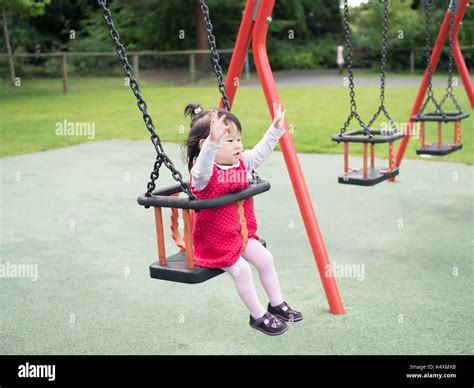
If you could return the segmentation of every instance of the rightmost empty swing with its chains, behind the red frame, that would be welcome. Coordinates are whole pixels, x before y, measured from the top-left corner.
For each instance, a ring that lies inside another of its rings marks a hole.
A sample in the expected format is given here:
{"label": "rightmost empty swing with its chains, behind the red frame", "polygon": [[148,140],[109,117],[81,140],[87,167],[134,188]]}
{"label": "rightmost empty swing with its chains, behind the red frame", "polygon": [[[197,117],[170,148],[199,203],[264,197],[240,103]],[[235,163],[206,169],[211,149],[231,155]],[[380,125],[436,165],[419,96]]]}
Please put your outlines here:
{"label": "rightmost empty swing with its chains, behind the red frame", "polygon": [[[420,123],[420,148],[416,150],[418,155],[437,155],[443,156],[450,154],[452,152],[458,151],[462,148],[462,128],[461,120],[469,117],[468,113],[463,113],[461,107],[459,106],[456,97],[453,94],[453,49],[454,49],[454,15],[456,13],[455,7],[457,3],[455,1],[450,1],[448,6],[449,12],[449,51],[448,51],[448,85],[446,87],[446,92],[438,103],[433,93],[432,77],[433,72],[431,69],[430,62],[430,51],[431,51],[431,36],[430,36],[430,26],[431,26],[431,7],[432,0],[424,1],[424,14],[425,14],[425,56],[427,62],[427,71],[428,71],[428,93],[427,98],[420,108],[419,112],[412,116],[414,122]],[[454,106],[457,109],[457,112],[445,112],[443,110],[443,104],[445,101],[450,98],[454,103]],[[429,102],[432,102],[435,106],[434,112],[424,113]],[[426,122],[435,122],[438,124],[438,140],[436,143],[426,143],[425,142],[425,123]],[[443,122],[454,122],[454,139],[453,142],[443,142],[442,140],[442,127]]]}

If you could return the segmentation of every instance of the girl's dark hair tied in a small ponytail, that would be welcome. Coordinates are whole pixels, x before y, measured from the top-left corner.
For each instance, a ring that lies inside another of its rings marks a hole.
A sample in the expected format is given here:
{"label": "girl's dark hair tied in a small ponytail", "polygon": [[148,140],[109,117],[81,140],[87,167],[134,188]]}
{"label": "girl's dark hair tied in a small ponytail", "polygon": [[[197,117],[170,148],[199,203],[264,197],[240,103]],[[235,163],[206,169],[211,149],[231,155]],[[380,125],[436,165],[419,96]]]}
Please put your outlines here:
{"label": "girl's dark hair tied in a small ponytail", "polygon": [[[237,127],[239,133],[242,133],[242,126],[240,125],[240,121],[235,115],[225,109],[213,109],[217,111],[218,117],[222,117],[225,115],[225,123],[227,125],[234,123]],[[185,143],[183,144],[183,148],[185,149],[185,159],[188,165],[188,170],[191,171],[193,167],[194,158],[197,158],[199,155],[199,141],[201,139],[206,139],[209,136],[210,132],[210,123],[211,123],[211,111],[202,109],[201,105],[188,103],[184,108],[184,115],[191,116],[191,124],[190,124],[190,131],[189,136]]]}

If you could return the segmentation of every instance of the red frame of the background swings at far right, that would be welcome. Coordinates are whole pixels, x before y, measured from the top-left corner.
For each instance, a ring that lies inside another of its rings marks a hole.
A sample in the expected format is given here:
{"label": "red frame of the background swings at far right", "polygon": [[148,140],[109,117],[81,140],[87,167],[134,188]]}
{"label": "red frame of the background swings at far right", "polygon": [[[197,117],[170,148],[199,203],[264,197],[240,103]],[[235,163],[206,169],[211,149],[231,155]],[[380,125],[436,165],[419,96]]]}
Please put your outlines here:
{"label": "red frame of the background swings at far right", "polygon": [[[461,51],[461,47],[459,46],[459,39],[458,39],[459,27],[464,18],[464,14],[466,13],[469,0],[457,0],[457,1],[458,1],[458,5],[456,8],[456,14],[454,16],[453,58],[456,63],[456,67],[459,71],[459,74],[461,75],[464,89],[466,90],[467,97],[469,98],[469,101],[471,103],[471,108],[474,108],[474,88],[472,86],[472,81],[469,76],[469,70],[467,69],[466,63],[464,62],[464,57],[462,55],[462,51]],[[438,66],[439,58],[441,56],[441,52],[445,45],[446,39],[449,35],[450,19],[451,19],[451,12],[449,12],[449,9],[448,9],[448,11],[446,12],[444,16],[443,23],[439,30],[435,45],[431,52],[430,64],[431,64],[431,69],[432,69],[431,72],[433,75],[435,74],[436,67]],[[423,104],[423,101],[425,100],[425,95],[428,90],[428,78],[429,78],[428,68],[426,68],[425,75],[423,77],[423,80],[421,81],[420,89],[418,90],[418,95],[416,97],[415,103],[413,104],[413,108],[411,110],[411,113],[408,119],[408,124],[405,127],[405,136],[401,140],[400,146],[398,147],[398,150],[397,150],[397,155],[395,158],[395,163],[397,167],[400,167],[400,165],[402,164],[403,156],[405,155],[408,142],[410,141],[410,136],[412,133],[413,123],[414,123],[414,121],[412,120],[412,116],[416,115],[419,112],[421,105]],[[422,136],[424,136],[424,134]],[[438,143],[441,141],[440,138],[441,138],[441,130],[438,127]],[[460,140],[458,128],[455,128],[455,140]],[[389,181],[392,181],[392,182],[394,180],[395,178],[389,179]]]}

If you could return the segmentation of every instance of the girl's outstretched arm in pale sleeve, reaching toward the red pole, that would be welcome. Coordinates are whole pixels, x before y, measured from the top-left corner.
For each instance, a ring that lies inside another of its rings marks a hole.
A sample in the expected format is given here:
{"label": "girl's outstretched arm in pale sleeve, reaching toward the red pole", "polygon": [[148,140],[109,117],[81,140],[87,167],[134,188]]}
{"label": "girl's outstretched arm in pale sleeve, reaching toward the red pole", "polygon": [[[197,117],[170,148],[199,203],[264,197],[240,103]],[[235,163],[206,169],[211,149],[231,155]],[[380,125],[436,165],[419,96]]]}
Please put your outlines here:
{"label": "girl's outstretched arm in pale sleeve, reaching toward the red pole", "polygon": [[245,151],[242,154],[242,161],[247,170],[254,170],[261,166],[275,149],[280,137],[285,133],[284,122],[286,111],[282,112],[281,105],[279,104],[277,106],[273,103],[273,112],[273,123],[270,128],[268,128],[262,140],[260,140],[253,149]]}

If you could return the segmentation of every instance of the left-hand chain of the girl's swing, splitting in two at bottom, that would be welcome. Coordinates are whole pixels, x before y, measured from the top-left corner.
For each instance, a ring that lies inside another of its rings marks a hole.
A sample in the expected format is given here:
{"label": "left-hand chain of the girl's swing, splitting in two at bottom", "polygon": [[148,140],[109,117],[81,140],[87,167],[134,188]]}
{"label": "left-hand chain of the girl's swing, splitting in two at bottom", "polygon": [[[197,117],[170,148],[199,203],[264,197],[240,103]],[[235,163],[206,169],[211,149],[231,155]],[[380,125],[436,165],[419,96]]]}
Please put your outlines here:
{"label": "left-hand chain of the girl's swing, splitting in two at bottom", "polygon": [[176,169],[171,159],[165,154],[163,150],[161,139],[155,131],[155,126],[153,124],[153,120],[151,119],[151,116],[148,114],[147,104],[141,96],[140,85],[138,84],[138,81],[133,76],[133,70],[132,70],[132,67],[130,66],[130,63],[128,62],[128,56],[125,51],[125,47],[120,42],[120,34],[115,28],[115,25],[112,19],[112,14],[109,8],[107,7],[107,0],[98,0],[98,3],[99,3],[99,6],[102,8],[102,16],[105,20],[105,23],[109,27],[110,37],[114,41],[115,50],[117,51],[117,54],[122,60],[123,70],[125,72],[125,75],[129,79],[130,88],[132,89],[132,92],[137,99],[138,109],[143,114],[143,121],[145,122],[145,126],[148,132],[150,132],[151,134],[150,139],[157,153],[157,157],[153,165],[153,171],[150,174],[150,182],[148,182],[147,184],[146,196],[151,196],[153,191],[155,190],[155,187],[156,187],[155,181],[158,179],[160,175],[159,169],[161,167],[161,164],[164,164],[171,171],[173,179],[180,183],[183,189],[183,192],[188,195],[189,199],[193,200],[196,197],[192,194],[191,189],[189,188],[189,185],[186,182],[184,182],[183,176]]}

